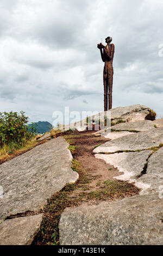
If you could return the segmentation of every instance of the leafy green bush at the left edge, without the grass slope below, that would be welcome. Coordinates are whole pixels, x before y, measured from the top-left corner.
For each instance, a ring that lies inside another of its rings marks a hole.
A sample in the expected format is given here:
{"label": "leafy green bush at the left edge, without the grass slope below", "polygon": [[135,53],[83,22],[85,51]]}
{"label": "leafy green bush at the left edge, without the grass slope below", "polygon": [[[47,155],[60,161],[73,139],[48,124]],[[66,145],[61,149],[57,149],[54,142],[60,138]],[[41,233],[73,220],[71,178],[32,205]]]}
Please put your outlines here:
{"label": "leafy green bush at the left edge, without the grass slope below", "polygon": [[28,130],[28,117],[24,112],[0,112],[0,147],[15,142],[23,144],[34,136],[35,130]]}

